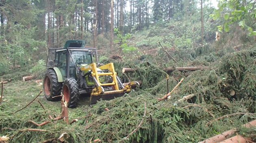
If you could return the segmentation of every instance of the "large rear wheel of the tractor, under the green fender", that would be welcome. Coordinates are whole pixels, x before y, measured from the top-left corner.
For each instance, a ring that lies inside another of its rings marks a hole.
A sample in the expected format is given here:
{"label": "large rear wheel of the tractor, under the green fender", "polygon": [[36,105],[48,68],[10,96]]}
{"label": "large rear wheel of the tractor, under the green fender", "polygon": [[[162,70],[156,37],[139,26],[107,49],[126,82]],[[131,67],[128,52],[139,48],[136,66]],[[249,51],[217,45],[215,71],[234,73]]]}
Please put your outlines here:
{"label": "large rear wheel of the tractor, under the green fender", "polygon": [[[57,75],[53,69],[48,69],[43,79],[43,92],[48,101],[59,101],[61,97],[62,83],[58,82]],[[53,98],[55,97],[55,98]]]}

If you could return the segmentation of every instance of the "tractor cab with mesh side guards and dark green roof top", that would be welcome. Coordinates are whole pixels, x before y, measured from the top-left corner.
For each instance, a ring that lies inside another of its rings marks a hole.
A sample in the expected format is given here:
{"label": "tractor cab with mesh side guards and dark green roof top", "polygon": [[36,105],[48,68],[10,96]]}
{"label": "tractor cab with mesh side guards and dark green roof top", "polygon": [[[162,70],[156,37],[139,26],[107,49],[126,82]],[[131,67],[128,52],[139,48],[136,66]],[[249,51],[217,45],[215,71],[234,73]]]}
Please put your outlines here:
{"label": "tractor cab with mesh side guards and dark green roof top", "polygon": [[64,48],[50,48],[47,67],[57,67],[62,78],[77,78],[78,67],[98,63],[96,48],[85,47],[84,40],[68,40]]}

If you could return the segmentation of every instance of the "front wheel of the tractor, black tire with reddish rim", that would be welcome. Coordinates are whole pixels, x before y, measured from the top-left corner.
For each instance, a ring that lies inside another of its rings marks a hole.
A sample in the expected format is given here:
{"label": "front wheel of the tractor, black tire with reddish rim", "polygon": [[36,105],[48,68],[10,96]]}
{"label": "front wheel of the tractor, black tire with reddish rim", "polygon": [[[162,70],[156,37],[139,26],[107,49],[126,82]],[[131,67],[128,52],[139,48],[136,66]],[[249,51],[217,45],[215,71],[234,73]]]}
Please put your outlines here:
{"label": "front wheel of the tractor, black tire with reddish rim", "polygon": [[67,107],[75,108],[79,101],[79,88],[74,78],[67,78],[63,83],[62,93],[64,100],[67,102]]}

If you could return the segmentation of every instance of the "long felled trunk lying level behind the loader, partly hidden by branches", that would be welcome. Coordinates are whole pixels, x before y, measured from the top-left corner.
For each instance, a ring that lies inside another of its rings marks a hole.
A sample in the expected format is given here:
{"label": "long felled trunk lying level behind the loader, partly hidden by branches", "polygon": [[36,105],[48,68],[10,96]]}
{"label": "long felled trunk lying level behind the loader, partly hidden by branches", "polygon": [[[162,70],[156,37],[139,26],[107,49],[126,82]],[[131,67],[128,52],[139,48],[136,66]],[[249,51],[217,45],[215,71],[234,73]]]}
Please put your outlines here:
{"label": "long felled trunk lying level behind the loader, partly hidden by branches", "polygon": [[[164,68],[164,71],[174,71],[174,70],[179,70],[179,71],[196,71],[196,70],[201,70],[201,69],[206,69],[208,67],[167,67]],[[128,67],[124,67],[122,69],[122,73],[128,73],[128,72],[134,72],[137,69],[133,69],[133,68],[128,68]]]}

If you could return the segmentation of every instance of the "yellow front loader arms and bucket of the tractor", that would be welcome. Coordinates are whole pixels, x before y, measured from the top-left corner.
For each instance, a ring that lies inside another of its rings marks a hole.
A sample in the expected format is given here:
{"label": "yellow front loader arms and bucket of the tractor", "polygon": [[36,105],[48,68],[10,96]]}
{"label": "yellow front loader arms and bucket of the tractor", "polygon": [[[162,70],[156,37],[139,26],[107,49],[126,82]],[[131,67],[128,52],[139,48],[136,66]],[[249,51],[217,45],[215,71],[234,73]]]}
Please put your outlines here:
{"label": "yellow front loader arms and bucket of the tractor", "polygon": [[[98,73],[97,67],[95,63],[90,64],[87,67],[82,67],[81,71],[91,70],[91,76],[95,82],[95,88],[91,92],[90,103],[95,104],[98,100],[111,100],[116,97],[121,97],[125,93],[130,93],[132,87],[135,87],[137,82],[130,82],[128,85],[123,86],[119,78],[117,77],[117,73],[115,72],[113,63],[108,63],[106,65],[102,65],[98,67],[101,69],[102,73]],[[100,77],[102,76],[110,76],[112,78],[111,82],[101,83]]]}

